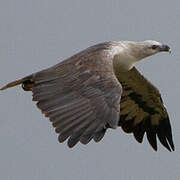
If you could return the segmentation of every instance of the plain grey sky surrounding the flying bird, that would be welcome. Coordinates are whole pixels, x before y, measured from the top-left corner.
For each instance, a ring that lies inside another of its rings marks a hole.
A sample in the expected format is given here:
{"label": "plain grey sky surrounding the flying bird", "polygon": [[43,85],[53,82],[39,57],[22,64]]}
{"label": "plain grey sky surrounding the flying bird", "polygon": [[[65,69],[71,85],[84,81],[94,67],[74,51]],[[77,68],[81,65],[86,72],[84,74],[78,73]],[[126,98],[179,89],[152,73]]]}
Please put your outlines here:
{"label": "plain grey sky surrounding the flying bird", "polygon": [[20,87],[0,92],[0,178],[169,180],[180,178],[180,1],[0,0],[0,86],[109,40],[154,39],[161,53],[137,67],[161,91],[175,152],[154,152],[120,128],[68,149]]}

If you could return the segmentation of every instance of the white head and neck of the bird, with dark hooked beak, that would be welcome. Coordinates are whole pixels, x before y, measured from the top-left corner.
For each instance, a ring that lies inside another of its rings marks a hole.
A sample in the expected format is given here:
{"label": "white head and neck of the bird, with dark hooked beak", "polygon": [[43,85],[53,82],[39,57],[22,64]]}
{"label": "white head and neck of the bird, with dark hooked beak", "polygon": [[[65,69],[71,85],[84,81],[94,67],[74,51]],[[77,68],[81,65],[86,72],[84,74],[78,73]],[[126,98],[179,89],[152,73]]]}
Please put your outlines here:
{"label": "white head and neck of the bird, with dark hooked beak", "polygon": [[136,62],[148,56],[171,51],[168,45],[153,40],[143,42],[119,41],[117,49],[113,61],[114,68],[122,71],[130,70]]}

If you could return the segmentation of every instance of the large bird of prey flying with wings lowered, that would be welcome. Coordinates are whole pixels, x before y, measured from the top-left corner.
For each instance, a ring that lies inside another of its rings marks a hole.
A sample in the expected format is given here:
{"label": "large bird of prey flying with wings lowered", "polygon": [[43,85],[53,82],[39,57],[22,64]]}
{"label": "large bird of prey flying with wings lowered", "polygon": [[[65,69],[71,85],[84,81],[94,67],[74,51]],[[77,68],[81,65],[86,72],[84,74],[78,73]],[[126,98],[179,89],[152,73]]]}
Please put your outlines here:
{"label": "large bird of prey flying with wings lowered", "polygon": [[13,81],[32,91],[33,101],[50,119],[59,142],[99,142],[108,128],[121,127],[142,143],[144,134],[154,150],[157,139],[174,151],[171,125],[158,89],[134,67],[159,52],[157,41],[111,41],[91,46],[48,69]]}

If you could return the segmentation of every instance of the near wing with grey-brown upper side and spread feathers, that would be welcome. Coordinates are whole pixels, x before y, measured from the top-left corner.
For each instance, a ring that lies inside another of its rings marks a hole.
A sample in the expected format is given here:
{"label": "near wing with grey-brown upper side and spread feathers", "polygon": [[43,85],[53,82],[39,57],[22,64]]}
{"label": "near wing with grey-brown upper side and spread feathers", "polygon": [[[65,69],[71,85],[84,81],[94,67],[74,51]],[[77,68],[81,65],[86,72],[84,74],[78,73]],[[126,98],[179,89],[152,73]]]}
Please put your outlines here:
{"label": "near wing with grey-brown upper side and spread feathers", "polygon": [[[33,75],[33,100],[49,117],[59,141],[100,141],[119,121],[121,85],[104,56],[73,57]],[[104,63],[102,69],[102,63]],[[106,69],[107,67],[107,69]]]}

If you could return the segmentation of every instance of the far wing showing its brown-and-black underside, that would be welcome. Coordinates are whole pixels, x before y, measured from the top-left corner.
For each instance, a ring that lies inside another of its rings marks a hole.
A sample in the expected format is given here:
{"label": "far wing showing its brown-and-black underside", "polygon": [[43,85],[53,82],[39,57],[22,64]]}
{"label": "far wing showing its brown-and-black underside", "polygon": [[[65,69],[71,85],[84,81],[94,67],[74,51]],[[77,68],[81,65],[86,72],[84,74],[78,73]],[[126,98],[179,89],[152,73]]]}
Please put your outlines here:
{"label": "far wing showing its brown-and-black underside", "polygon": [[174,150],[171,125],[161,95],[134,67],[117,74],[123,87],[120,103],[119,125],[127,133],[133,133],[142,142],[144,133],[151,146],[157,150],[156,136],[169,150]]}

